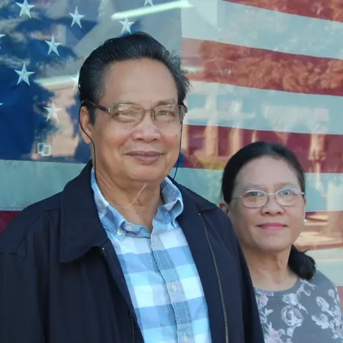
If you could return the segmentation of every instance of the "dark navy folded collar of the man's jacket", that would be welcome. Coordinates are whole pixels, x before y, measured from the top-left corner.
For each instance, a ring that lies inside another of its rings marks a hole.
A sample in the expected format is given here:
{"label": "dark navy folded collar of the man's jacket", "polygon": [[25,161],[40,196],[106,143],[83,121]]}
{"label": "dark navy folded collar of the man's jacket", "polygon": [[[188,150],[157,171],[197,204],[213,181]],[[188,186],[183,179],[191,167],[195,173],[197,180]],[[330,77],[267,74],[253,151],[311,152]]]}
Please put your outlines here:
{"label": "dark navy folded collar of the man's jacket", "polygon": [[[62,191],[61,262],[78,259],[91,248],[103,246],[107,240],[106,232],[99,220],[93,190],[91,189],[92,167],[93,164],[89,161],[80,175],[68,182]],[[216,207],[211,202],[193,193],[193,191],[179,185],[171,178],[169,179],[182,194],[185,206],[181,215],[182,218],[187,217],[185,215],[187,208],[192,208],[192,212],[198,215],[198,213]]]}

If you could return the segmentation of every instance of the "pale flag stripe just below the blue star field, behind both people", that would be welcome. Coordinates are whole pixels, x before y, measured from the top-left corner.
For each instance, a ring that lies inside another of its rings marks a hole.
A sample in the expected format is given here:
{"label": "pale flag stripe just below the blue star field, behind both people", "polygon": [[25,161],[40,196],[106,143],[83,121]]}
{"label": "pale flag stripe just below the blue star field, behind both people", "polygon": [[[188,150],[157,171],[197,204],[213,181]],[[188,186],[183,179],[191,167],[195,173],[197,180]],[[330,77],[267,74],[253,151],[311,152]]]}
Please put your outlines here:
{"label": "pale flag stripe just below the blue star field, behind both people", "polygon": [[[0,211],[20,211],[62,191],[82,167],[77,163],[0,161],[0,175],[6,176],[0,179]],[[221,177],[221,170],[179,168],[176,180],[218,204]],[[307,211],[342,211],[343,174],[308,173],[306,178]]]}

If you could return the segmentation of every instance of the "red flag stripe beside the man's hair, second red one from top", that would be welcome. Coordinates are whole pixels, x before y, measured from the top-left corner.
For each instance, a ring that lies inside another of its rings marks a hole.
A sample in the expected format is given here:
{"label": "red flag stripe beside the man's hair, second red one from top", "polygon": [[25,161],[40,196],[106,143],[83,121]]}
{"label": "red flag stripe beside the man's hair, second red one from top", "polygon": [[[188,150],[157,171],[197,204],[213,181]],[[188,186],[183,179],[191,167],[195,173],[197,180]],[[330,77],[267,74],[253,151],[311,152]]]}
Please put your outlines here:
{"label": "red flag stripe beside the man's hair, second red one from top", "polygon": [[211,40],[182,40],[191,80],[293,93],[343,95],[343,60],[285,54]]}

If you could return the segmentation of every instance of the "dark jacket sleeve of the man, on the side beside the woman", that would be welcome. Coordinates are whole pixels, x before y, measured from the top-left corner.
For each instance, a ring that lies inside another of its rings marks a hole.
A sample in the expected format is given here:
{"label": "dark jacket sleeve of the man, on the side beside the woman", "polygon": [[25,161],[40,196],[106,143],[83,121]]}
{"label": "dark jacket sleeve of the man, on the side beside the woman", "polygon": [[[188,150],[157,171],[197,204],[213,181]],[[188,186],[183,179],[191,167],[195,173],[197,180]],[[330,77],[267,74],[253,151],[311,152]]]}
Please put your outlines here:
{"label": "dark jacket sleeve of the man, on the side beside the woman", "polygon": [[[236,239],[237,241],[237,239]],[[244,258],[241,246],[237,241],[239,264],[241,270],[241,302],[243,306],[244,320],[244,342],[245,343],[264,343],[261,320],[259,318],[259,310],[257,308],[254,287],[246,259]]]}

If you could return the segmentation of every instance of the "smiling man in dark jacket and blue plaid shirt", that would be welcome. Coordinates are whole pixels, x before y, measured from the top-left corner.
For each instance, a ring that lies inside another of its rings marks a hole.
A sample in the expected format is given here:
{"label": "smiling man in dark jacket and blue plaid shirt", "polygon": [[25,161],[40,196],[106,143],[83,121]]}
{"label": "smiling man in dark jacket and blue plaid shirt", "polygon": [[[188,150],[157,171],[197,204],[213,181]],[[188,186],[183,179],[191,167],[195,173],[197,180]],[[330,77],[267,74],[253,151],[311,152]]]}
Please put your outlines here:
{"label": "smiling man in dark jacket and blue plaid shirt", "polygon": [[246,262],[214,204],[167,175],[189,81],[135,33],[80,70],[92,161],[0,239],[1,343],[263,342]]}

